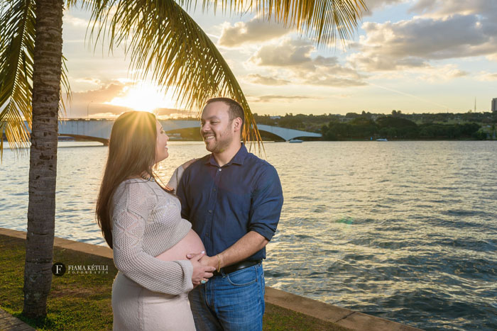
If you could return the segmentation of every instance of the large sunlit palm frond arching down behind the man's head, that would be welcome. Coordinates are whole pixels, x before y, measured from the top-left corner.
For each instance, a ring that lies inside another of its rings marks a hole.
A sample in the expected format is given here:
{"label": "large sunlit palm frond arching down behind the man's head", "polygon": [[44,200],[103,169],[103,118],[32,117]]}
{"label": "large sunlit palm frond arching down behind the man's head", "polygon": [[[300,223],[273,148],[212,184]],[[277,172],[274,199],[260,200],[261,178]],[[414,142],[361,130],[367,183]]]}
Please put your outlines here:
{"label": "large sunlit palm frond arching down behind the man's head", "polygon": [[[109,38],[110,47],[124,45],[136,78],[150,77],[189,108],[201,107],[209,97],[229,96],[245,112],[244,141],[261,136],[249,103],[226,61],[202,28],[175,1],[105,1],[92,8],[91,36]],[[114,11],[111,16],[110,11]]]}

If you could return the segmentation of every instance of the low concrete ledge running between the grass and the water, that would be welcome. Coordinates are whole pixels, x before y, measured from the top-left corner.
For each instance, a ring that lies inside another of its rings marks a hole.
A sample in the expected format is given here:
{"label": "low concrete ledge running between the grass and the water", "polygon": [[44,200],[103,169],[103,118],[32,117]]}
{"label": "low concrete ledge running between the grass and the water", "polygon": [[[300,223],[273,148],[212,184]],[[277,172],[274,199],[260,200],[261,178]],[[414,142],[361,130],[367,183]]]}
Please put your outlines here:
{"label": "low concrete ledge running between the grass and the water", "polygon": [[[0,228],[0,235],[8,235],[26,239],[26,232],[9,230]],[[55,237],[55,247],[62,247],[72,249],[78,252],[97,255],[99,257],[107,257],[112,259],[112,249],[109,247],[97,246],[86,244],[84,242],[76,242],[74,240],[67,240]],[[354,310],[341,308],[329,303],[304,298],[292,293],[278,290],[266,286],[265,300],[273,305],[296,311],[305,315],[318,318],[326,322],[334,322],[342,327],[348,327],[351,330],[374,330],[374,331],[415,331],[420,330],[415,327],[403,325],[398,322],[378,318],[376,316],[359,313]]]}

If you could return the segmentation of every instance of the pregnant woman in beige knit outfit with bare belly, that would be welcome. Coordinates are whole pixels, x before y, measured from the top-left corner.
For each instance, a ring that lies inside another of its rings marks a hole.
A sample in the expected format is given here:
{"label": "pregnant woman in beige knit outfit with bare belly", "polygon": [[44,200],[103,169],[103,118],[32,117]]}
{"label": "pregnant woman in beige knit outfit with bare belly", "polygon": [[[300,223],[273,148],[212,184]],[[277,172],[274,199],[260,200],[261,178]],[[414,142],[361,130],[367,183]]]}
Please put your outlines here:
{"label": "pregnant woman in beige knit outfit with bare belly", "polygon": [[[97,220],[119,272],[112,286],[114,330],[195,330],[187,293],[212,276],[200,264],[204,245],[181,218],[174,195],[184,164],[168,186],[153,167],[168,157],[168,136],[151,113],[115,121],[97,200]],[[202,252],[186,259],[190,252]]]}

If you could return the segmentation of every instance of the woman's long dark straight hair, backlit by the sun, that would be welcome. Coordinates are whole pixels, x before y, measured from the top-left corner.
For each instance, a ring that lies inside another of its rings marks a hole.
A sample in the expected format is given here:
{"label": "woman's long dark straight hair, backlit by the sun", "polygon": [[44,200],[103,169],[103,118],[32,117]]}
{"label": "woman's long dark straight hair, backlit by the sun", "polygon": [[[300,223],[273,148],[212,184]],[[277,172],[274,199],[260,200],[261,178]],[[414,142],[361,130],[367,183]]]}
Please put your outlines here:
{"label": "woman's long dark straight hair, backlit by the sun", "polygon": [[97,198],[97,222],[112,248],[111,203],[117,186],[143,172],[153,175],[157,129],[155,116],[145,111],[129,111],[112,125],[109,157]]}

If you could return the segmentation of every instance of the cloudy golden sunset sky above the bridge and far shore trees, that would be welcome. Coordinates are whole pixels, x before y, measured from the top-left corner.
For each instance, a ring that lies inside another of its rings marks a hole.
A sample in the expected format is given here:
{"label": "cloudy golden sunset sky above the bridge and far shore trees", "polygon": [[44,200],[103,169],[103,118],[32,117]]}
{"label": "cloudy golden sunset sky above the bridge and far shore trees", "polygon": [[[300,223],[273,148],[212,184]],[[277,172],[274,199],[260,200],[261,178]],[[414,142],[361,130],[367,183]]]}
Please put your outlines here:
{"label": "cloudy golden sunset sky above the bridge and far shore trees", "polygon": [[[497,98],[497,1],[366,0],[354,40],[317,47],[275,23],[190,15],[216,43],[254,113],[489,111]],[[90,50],[89,13],[64,14],[72,105],[67,117],[111,117],[129,107],[181,108],[151,82],[132,82],[124,52]]]}

